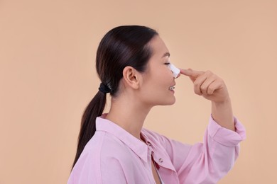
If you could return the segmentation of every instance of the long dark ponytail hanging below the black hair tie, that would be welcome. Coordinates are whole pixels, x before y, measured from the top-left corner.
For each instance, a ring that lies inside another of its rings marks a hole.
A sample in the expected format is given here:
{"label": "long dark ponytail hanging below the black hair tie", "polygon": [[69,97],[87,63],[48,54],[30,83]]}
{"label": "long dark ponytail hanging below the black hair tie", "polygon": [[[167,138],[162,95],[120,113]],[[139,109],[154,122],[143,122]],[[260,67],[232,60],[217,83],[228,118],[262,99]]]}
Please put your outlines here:
{"label": "long dark ponytail hanging below the black hair tie", "polygon": [[98,93],[92,98],[90,103],[82,115],[81,128],[78,138],[77,153],[73,162],[72,168],[79,159],[82,151],[85,148],[87,142],[92,139],[96,131],[95,120],[96,117],[101,116],[106,105],[106,93],[98,91]]}

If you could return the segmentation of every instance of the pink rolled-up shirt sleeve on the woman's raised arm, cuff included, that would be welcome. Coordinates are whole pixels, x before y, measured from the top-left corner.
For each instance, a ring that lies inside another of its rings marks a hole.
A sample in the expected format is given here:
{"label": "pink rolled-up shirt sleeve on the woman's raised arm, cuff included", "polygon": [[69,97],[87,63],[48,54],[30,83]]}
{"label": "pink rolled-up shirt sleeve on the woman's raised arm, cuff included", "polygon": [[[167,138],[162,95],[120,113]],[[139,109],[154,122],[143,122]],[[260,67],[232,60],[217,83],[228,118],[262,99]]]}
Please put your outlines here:
{"label": "pink rolled-up shirt sleeve on the woman's raised arm, cuff included", "polygon": [[161,137],[180,183],[217,183],[234,166],[239,142],[246,138],[244,126],[234,117],[235,131],[221,127],[210,116],[202,143],[183,144]]}

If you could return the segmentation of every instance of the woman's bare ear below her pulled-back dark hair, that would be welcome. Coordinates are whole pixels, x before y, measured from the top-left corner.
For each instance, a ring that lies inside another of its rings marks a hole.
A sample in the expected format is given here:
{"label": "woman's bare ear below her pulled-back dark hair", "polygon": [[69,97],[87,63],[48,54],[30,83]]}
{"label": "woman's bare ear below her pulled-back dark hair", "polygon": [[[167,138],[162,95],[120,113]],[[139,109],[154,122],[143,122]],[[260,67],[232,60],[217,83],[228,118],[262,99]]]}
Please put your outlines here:
{"label": "woman's bare ear below her pulled-back dark hair", "polygon": [[139,71],[136,71],[133,67],[127,66],[122,71],[125,84],[131,88],[139,88]]}

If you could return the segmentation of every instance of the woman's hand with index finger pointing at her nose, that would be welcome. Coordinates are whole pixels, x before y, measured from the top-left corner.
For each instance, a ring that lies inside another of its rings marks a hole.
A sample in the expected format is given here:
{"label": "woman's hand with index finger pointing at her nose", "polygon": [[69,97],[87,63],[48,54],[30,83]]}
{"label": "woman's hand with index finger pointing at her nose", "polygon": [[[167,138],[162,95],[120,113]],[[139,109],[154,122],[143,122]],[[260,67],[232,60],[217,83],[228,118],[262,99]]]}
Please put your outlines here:
{"label": "woman's hand with index finger pointing at her nose", "polygon": [[192,69],[180,69],[180,74],[189,76],[193,82],[194,91],[214,103],[224,103],[229,100],[227,86],[219,76],[212,71],[195,71]]}

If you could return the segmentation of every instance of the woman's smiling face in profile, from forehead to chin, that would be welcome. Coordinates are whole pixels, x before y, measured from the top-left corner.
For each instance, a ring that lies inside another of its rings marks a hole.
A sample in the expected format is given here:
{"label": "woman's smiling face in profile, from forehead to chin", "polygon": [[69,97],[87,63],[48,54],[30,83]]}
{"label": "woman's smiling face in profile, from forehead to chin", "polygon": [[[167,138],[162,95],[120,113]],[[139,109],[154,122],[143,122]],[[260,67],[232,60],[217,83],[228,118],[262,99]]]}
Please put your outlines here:
{"label": "woman's smiling face in profile, from forehead to chin", "polygon": [[154,37],[149,46],[152,56],[146,72],[142,74],[141,99],[147,105],[172,105],[175,103],[173,72],[168,68],[169,51],[159,36]]}

